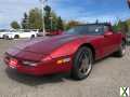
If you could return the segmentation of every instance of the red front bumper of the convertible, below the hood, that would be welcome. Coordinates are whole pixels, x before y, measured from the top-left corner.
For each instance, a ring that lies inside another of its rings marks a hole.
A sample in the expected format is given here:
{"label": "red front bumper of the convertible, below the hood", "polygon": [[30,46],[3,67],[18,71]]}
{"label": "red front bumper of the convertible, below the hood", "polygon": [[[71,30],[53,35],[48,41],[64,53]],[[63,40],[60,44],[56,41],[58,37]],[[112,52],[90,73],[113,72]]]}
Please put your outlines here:
{"label": "red front bumper of the convertible, below the hood", "polygon": [[[17,59],[18,60],[18,59]],[[17,72],[31,74],[31,75],[44,75],[44,74],[53,74],[57,72],[67,72],[72,69],[72,61],[56,65],[57,59],[51,59],[49,61],[39,63],[38,66],[25,66],[21,64],[22,59],[20,59],[18,64],[15,67],[10,65],[9,56],[4,58],[4,63],[9,68],[15,69]]]}

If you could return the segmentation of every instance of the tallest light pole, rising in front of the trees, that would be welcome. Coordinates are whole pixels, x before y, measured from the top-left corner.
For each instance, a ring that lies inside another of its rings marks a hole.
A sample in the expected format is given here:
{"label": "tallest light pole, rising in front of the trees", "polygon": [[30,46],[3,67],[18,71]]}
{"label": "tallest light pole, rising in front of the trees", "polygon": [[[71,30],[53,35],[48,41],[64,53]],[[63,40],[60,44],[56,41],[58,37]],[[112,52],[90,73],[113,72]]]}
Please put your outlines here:
{"label": "tallest light pole, rising in front of the trees", "polygon": [[43,36],[46,36],[46,24],[44,24],[44,6],[46,6],[46,2],[48,0],[39,0],[41,3],[41,11],[42,11],[42,31],[43,31]]}

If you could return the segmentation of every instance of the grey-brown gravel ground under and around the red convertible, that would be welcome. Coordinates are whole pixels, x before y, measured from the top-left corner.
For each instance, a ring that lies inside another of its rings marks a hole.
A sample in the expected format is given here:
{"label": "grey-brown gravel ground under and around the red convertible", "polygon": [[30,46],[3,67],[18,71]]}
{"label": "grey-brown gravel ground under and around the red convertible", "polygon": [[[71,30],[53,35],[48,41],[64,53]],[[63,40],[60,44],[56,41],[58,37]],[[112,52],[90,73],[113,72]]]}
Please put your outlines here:
{"label": "grey-brown gravel ground under and around the red convertible", "polygon": [[36,78],[9,70],[2,55],[22,41],[0,40],[0,97],[119,97],[120,86],[130,87],[130,47],[125,57],[102,59],[88,79],[74,81],[69,73]]}

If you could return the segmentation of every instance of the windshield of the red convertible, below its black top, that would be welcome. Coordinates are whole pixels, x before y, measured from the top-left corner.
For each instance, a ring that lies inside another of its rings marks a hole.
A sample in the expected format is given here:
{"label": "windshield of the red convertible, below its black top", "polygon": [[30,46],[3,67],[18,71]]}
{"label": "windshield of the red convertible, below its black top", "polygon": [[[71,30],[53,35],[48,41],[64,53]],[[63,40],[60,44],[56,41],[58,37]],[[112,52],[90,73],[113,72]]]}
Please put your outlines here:
{"label": "windshield of the red convertible, below its black top", "polygon": [[104,25],[81,25],[76,26],[66,33],[68,34],[103,34],[104,33]]}

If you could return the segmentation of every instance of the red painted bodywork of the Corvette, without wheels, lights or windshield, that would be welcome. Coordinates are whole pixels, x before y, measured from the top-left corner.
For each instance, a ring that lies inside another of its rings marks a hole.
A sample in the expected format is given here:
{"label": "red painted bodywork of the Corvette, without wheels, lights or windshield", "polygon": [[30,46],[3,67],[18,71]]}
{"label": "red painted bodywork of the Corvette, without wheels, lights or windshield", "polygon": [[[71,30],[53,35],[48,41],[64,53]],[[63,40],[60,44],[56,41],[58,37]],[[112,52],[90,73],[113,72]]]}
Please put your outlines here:
{"label": "red painted bodywork of the Corvette, without wheels, lights or windshield", "polygon": [[[11,67],[10,59],[16,59],[13,67],[27,74],[42,75],[67,72],[73,67],[73,58],[78,48],[89,44],[94,50],[94,59],[101,59],[118,50],[125,37],[120,32],[106,31],[101,36],[61,34],[51,38],[39,38],[20,44],[5,52],[5,64]],[[57,64],[57,60],[70,58],[69,61]],[[23,61],[32,61],[37,66],[27,66]]]}

